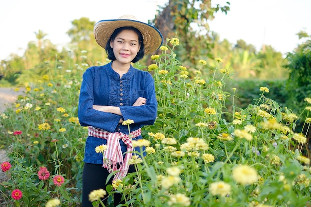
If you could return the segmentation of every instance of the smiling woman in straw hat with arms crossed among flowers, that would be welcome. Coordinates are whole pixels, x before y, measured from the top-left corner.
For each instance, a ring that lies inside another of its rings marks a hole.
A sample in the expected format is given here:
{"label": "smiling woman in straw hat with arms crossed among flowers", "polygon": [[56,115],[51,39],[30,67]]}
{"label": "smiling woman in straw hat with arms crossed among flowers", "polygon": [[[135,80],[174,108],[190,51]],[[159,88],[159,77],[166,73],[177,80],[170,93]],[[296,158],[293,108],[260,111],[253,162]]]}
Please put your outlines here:
{"label": "smiling woman in straw hat with arms crossed among flowers", "polygon": [[[97,22],[94,35],[111,62],[92,66],[83,74],[78,118],[82,126],[89,126],[83,168],[83,207],[92,207],[90,192],[106,190],[112,179],[122,179],[127,172],[135,171],[127,165],[132,153],[125,152],[133,149],[128,126],[122,122],[133,120],[132,139],[141,139],[141,127],[152,125],[156,120],[157,101],[151,74],[135,69],[131,62],[156,51],[163,42],[162,34],[155,27],[130,15]],[[108,147],[104,156],[95,151],[102,144]],[[106,184],[107,177],[114,171],[118,173]],[[114,206],[120,202],[121,195],[114,194]]]}

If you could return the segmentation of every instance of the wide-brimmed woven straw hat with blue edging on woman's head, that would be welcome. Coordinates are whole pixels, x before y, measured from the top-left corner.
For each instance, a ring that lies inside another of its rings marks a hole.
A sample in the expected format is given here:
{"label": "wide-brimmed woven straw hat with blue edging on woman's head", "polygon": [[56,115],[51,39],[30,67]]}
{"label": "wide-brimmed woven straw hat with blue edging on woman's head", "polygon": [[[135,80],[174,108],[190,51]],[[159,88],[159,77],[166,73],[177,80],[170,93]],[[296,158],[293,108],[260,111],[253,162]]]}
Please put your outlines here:
{"label": "wide-brimmed woven straw hat with blue edging on woman's head", "polygon": [[105,48],[114,30],[120,27],[135,27],[142,33],[145,55],[156,51],[163,43],[163,36],[156,27],[140,22],[132,15],[124,15],[118,19],[101,20],[97,22],[94,27],[96,42],[101,47]]}

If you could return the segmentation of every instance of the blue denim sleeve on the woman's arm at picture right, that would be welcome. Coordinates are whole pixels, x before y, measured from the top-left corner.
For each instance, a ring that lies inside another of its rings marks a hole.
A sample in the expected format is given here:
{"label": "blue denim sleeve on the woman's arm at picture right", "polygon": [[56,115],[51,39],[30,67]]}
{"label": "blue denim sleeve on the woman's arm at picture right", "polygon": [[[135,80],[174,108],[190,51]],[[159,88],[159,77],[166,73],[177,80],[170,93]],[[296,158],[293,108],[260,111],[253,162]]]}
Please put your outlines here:
{"label": "blue denim sleeve on the woman's arm at picture right", "polygon": [[145,76],[144,98],[146,104],[143,106],[123,106],[120,107],[124,120],[131,119],[135,124],[153,125],[157,116],[157,100],[154,80],[150,73]]}

